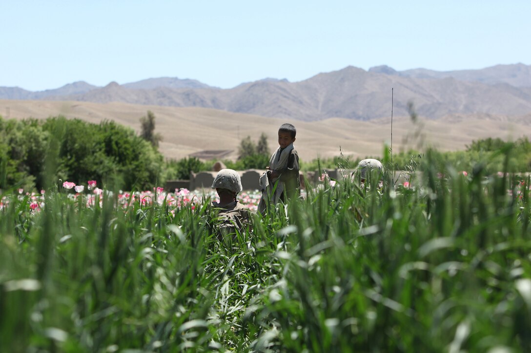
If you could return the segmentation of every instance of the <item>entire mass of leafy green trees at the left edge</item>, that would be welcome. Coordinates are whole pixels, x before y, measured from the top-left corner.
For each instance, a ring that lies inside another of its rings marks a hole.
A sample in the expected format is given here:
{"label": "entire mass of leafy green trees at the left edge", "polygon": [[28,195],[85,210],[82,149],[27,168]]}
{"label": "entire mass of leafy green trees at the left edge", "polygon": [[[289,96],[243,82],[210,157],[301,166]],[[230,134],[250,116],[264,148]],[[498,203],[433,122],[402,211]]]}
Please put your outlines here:
{"label": "entire mass of leafy green trees at the left edge", "polygon": [[113,121],[0,118],[0,137],[0,188],[41,189],[46,167],[53,168],[49,175],[55,182],[114,180],[129,190],[165,179],[164,158],[157,149]]}

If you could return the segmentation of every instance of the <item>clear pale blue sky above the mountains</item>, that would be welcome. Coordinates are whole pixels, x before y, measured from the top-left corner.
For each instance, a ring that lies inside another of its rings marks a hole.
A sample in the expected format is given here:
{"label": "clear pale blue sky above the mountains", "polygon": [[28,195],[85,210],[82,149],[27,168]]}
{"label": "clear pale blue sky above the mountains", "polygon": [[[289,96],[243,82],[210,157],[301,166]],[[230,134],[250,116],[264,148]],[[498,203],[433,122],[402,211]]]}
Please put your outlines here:
{"label": "clear pale blue sky above the mountains", "polygon": [[531,64],[531,1],[7,1],[0,86],[150,77],[222,88],[348,65],[397,70]]}

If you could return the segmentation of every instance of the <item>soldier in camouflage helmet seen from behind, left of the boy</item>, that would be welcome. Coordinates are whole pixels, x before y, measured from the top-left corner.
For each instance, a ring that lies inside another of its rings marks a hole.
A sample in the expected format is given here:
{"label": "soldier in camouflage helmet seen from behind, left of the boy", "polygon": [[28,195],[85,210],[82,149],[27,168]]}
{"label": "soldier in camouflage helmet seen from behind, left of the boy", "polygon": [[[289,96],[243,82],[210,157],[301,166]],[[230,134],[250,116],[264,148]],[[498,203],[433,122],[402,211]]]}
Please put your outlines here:
{"label": "soldier in camouflage helmet seen from behind, left of the boy", "polygon": [[225,235],[252,230],[251,210],[236,200],[238,192],[242,191],[242,180],[238,172],[232,169],[222,169],[212,183],[216,189],[219,202],[212,202],[217,209],[217,223],[220,233]]}

